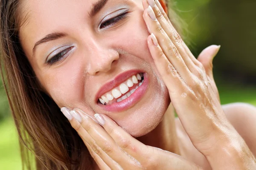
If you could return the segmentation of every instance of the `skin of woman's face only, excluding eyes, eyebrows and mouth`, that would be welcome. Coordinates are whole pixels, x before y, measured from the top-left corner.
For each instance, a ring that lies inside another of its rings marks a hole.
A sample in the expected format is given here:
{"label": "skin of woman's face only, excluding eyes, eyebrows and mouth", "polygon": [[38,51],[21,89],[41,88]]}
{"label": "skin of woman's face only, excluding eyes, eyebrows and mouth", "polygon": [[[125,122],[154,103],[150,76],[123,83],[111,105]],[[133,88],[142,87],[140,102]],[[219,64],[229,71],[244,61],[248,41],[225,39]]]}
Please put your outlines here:
{"label": "skin of woman's face only, excluding eyes, eyebrows and mouth", "polygon": [[[90,116],[104,113],[133,136],[142,136],[158,125],[169,105],[167,88],[157,76],[147,47],[149,33],[142,17],[142,3],[140,0],[110,0],[101,12],[90,18],[88,11],[95,2],[27,0],[24,4],[29,5],[24,7],[24,14],[28,20],[20,30],[22,46],[39,82],[60,108],[79,108]],[[100,21],[121,7],[132,12],[125,20],[99,31]],[[54,31],[68,36],[39,45],[32,56],[35,42]],[[123,40],[125,42],[120,43]],[[72,53],[55,65],[46,65],[47,55],[64,45],[74,46]],[[94,101],[96,92],[117,74],[131,69],[140,69],[150,77],[143,99],[123,112],[102,110]],[[151,107],[148,107],[149,98]]]}

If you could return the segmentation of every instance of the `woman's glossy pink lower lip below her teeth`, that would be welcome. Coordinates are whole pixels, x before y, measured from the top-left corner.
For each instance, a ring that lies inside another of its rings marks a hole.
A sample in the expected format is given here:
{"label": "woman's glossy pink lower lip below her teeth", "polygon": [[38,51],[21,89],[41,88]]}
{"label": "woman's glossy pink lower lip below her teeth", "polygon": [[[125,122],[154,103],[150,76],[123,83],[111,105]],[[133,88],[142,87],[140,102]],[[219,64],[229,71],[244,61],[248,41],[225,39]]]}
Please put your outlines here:
{"label": "woman's glossy pink lower lip below her teeth", "polygon": [[131,94],[131,96],[129,96],[127,99],[124,99],[121,102],[115,102],[111,105],[102,105],[102,104],[98,104],[98,105],[103,110],[109,111],[109,112],[125,111],[125,110],[127,110],[128,108],[131,108],[133,105],[135,105],[137,102],[140,101],[140,99],[145,94],[147,88],[148,88],[148,75],[144,73],[143,84],[139,88],[137,88],[136,91],[134,91],[134,93]]}

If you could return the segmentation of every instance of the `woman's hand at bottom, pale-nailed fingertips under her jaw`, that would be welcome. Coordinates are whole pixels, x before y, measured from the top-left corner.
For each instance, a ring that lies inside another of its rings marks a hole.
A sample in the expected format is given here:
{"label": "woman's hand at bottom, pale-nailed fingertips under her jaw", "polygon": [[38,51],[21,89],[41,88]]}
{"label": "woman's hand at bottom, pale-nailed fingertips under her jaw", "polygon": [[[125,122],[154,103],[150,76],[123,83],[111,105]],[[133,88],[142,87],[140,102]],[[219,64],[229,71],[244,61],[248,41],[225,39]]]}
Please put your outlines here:
{"label": "woman's hand at bottom, pale-nailed fingertips under her jaw", "polygon": [[62,108],[61,111],[101,170],[202,169],[179,155],[141,143],[104,114],[95,114],[100,126],[79,109],[69,112]]}

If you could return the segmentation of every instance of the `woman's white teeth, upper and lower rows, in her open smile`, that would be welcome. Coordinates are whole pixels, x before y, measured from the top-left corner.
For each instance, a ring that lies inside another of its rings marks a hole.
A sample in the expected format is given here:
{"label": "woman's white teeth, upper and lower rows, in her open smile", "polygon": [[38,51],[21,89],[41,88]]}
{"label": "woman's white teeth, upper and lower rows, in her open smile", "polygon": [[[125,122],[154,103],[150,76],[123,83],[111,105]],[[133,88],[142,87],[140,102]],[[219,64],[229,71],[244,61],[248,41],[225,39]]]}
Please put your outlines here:
{"label": "woman's white teeth, upper and lower rows, in her open smile", "polygon": [[[111,91],[108,93],[104,94],[99,98],[99,101],[104,105],[105,103],[108,103],[109,101],[113,100],[114,98],[119,98],[122,96],[122,94],[125,94],[129,91],[129,87],[133,87],[134,84],[138,83],[138,80],[141,80],[143,77],[143,74],[136,74],[129,79],[127,79],[125,82],[121,83],[118,87],[113,88]],[[142,82],[139,83],[139,86],[142,85]],[[136,89],[138,87],[136,86]],[[132,93],[134,93],[135,89],[132,89],[128,94],[125,96],[122,96],[120,99],[117,99],[117,102],[122,101],[129,97]]]}

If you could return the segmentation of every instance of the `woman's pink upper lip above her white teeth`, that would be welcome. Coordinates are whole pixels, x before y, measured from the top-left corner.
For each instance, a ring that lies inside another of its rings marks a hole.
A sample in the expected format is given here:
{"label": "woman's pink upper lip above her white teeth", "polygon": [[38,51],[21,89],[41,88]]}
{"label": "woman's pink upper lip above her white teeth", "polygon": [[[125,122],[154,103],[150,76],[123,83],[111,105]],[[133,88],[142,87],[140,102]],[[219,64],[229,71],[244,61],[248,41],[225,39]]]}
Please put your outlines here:
{"label": "woman's pink upper lip above her white teeth", "polygon": [[97,102],[98,99],[105,93],[107,93],[108,91],[112,90],[113,88],[116,88],[117,86],[119,86],[122,82],[124,82],[125,80],[127,80],[129,77],[132,77],[133,75],[137,74],[137,73],[143,73],[143,71],[141,70],[129,70],[129,71],[125,71],[119,75],[117,75],[114,79],[112,79],[111,81],[105,83],[100,89],[99,91],[96,93],[96,98],[95,101]]}

